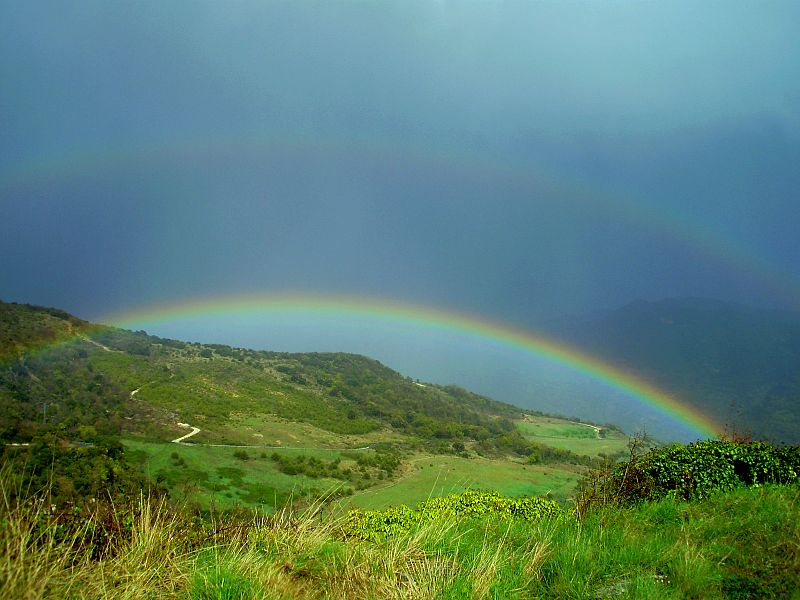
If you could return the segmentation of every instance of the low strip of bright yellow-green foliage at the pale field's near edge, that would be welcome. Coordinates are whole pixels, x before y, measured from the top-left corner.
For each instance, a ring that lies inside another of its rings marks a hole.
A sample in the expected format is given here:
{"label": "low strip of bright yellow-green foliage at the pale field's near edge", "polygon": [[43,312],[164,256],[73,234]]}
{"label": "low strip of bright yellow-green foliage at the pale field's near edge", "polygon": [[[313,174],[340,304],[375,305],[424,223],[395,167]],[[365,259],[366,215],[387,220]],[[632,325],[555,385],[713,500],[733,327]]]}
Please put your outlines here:
{"label": "low strip of bright yellow-green foliage at the pale field's near edge", "polygon": [[365,540],[383,540],[434,521],[452,522],[478,516],[501,516],[535,522],[561,519],[564,509],[548,498],[507,498],[495,492],[469,490],[432,498],[411,509],[405,504],[383,511],[350,511],[343,526],[346,535]]}

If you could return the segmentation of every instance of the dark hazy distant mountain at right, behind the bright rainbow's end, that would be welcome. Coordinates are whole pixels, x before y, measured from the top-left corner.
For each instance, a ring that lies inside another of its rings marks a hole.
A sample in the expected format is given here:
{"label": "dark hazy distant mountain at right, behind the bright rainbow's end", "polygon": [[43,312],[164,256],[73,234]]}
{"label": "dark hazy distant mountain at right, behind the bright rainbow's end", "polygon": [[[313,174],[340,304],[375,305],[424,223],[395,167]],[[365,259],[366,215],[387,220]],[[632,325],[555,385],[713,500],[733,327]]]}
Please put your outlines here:
{"label": "dark hazy distant mountain at right, behind the bright rainbow's end", "polygon": [[731,431],[800,442],[800,313],[707,298],[640,300],[548,329]]}

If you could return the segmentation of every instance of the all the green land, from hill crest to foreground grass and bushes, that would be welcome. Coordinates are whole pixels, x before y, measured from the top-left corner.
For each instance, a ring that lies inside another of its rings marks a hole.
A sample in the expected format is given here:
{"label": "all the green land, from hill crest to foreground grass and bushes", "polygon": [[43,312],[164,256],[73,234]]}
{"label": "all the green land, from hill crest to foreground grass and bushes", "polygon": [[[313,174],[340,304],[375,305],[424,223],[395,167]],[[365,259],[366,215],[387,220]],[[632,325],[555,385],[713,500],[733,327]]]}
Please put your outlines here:
{"label": "all the green land, from hill crest to foreground grass and bushes", "polygon": [[800,450],[0,303],[3,598],[797,598]]}

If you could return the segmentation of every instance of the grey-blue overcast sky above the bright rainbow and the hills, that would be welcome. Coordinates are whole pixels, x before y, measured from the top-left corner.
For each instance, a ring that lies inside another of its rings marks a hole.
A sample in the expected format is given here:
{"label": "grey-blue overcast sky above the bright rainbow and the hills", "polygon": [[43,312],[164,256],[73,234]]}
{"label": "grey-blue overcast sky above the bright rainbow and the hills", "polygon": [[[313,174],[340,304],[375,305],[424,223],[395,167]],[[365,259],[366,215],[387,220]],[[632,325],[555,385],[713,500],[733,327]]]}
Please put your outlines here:
{"label": "grey-blue overcast sky above the bright rainbow and the hills", "polygon": [[800,3],[0,2],[0,298],[800,306]]}

